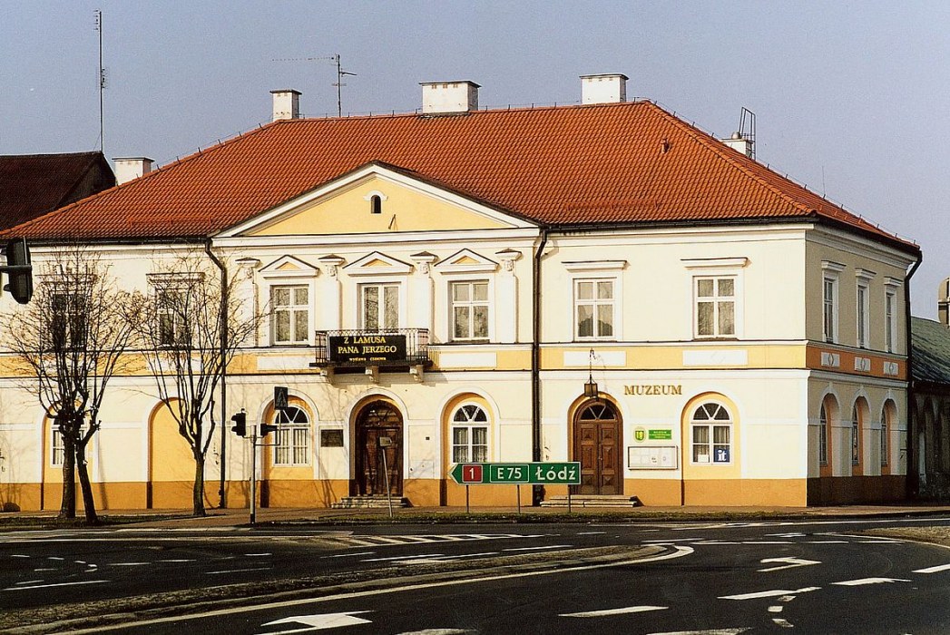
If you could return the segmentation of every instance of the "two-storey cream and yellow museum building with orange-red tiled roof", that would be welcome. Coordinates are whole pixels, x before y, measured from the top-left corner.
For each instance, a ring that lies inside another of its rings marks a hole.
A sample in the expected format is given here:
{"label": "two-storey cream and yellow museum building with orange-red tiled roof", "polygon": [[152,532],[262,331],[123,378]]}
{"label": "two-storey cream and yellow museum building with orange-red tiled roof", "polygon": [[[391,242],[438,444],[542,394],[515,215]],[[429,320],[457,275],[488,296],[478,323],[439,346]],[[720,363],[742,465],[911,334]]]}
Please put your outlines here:
{"label": "two-storey cream and yellow museum building with orange-red tiled roof", "polygon": [[[575,494],[646,505],[902,498],[920,249],[750,159],[749,140],[627,102],[626,81],[496,110],[478,84],[422,84],[419,112],[320,120],[275,91],[274,122],[14,231],[37,261],[94,243],[131,289],[206,246],[242,271],[246,306],[272,313],[226,399],[280,427],[263,504],[389,487],[462,505],[454,464],[532,459],[580,461]],[[151,383],[123,378],[101,413],[104,507],[189,505]],[[0,496],[58,506],[56,433],[17,390],[8,373]],[[212,455],[209,502],[219,479],[246,505],[247,441],[222,434]]]}

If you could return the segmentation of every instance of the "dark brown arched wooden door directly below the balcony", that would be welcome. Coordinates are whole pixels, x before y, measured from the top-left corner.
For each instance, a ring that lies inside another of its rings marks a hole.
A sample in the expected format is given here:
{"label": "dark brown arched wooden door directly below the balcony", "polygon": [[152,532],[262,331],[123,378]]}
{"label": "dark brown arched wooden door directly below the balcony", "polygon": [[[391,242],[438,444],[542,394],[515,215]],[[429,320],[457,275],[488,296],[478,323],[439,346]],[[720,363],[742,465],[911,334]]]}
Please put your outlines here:
{"label": "dark brown arched wooden door directly below the balcony", "polygon": [[371,402],[356,418],[353,495],[403,494],[403,417],[389,402]]}

